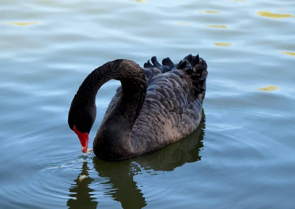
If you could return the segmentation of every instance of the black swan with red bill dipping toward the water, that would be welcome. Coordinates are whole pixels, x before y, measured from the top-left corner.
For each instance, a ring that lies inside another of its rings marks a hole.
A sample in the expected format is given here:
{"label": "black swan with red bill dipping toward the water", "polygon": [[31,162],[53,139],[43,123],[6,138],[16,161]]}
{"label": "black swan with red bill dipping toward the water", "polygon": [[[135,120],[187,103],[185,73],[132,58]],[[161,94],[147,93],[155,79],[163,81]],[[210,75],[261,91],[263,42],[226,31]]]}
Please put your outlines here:
{"label": "black swan with red bill dipping toward the water", "polygon": [[71,103],[68,124],[88,150],[96,117],[95,97],[111,79],[121,82],[93,141],[102,160],[119,160],[151,152],[182,139],[197,129],[206,93],[207,64],[188,55],[178,64],[151,58],[141,68],[118,59],[93,70]]}

